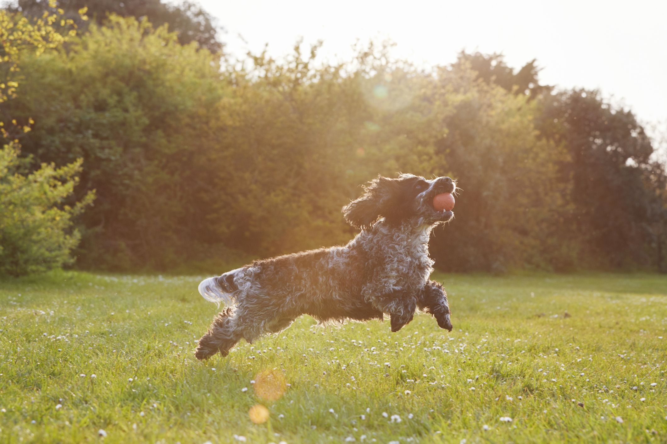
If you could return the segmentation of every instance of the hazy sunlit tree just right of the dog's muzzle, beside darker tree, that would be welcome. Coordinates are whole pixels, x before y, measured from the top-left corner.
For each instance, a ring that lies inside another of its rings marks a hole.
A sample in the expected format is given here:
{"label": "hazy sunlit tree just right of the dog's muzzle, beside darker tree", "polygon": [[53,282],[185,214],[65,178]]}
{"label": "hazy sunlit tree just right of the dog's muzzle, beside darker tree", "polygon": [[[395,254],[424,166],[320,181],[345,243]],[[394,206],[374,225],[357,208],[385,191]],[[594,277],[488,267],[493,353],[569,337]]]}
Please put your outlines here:
{"label": "hazy sunlit tree just right of the dog's muzzle, beside darker tree", "polygon": [[483,83],[474,71],[442,69],[439,81],[458,99],[442,121],[448,130],[435,158],[462,191],[457,219],[432,238],[436,262],[456,271],[558,267],[567,260],[557,231],[568,184],[556,165],[566,153],[540,139],[536,103]]}

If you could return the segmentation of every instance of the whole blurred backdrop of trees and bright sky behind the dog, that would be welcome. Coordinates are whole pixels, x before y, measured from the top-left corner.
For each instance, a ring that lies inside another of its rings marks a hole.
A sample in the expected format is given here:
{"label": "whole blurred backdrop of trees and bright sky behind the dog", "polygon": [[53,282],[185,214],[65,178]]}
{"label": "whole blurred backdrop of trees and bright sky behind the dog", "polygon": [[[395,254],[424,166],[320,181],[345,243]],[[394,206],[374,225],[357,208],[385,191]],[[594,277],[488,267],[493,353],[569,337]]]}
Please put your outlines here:
{"label": "whole blurred backdrop of trees and bright sky behind the dog", "polygon": [[345,243],[397,172],[441,270],[667,271],[667,6],[464,3],[5,1],[0,274]]}

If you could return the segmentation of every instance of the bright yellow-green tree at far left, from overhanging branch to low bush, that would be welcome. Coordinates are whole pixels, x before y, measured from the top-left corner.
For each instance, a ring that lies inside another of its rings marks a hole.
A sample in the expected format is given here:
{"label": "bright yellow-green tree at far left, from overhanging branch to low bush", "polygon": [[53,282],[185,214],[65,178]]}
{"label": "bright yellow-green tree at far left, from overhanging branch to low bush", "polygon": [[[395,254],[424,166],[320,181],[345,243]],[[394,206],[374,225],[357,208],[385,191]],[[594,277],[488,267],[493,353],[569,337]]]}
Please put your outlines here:
{"label": "bright yellow-green tree at far left, from overhanging branch to low bush", "polygon": [[[49,3],[51,9],[53,3]],[[45,11],[32,21],[0,11],[0,103],[8,123],[0,121],[0,134],[13,139],[0,150],[0,275],[20,276],[71,262],[70,252],[80,238],[72,228],[73,217],[94,198],[89,191],[73,206],[65,204],[78,182],[81,159],[61,168],[41,164],[34,172],[25,171],[28,162],[19,158],[18,137],[35,122],[27,116],[17,121],[8,111],[8,105],[17,103],[25,57],[39,57],[61,47],[75,33],[71,27],[73,22],[64,19],[61,11]]]}

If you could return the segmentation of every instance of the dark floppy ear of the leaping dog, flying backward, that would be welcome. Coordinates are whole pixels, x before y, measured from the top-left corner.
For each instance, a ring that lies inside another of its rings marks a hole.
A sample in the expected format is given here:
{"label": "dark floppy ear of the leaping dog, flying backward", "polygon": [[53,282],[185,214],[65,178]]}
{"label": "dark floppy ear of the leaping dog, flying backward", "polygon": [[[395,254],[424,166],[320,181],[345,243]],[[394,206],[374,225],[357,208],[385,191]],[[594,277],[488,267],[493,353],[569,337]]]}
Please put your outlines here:
{"label": "dark floppy ear of the leaping dog, flying backward", "polygon": [[364,194],[343,207],[343,216],[348,224],[359,230],[369,230],[392,205],[396,192],[396,179],[383,176],[368,182]]}

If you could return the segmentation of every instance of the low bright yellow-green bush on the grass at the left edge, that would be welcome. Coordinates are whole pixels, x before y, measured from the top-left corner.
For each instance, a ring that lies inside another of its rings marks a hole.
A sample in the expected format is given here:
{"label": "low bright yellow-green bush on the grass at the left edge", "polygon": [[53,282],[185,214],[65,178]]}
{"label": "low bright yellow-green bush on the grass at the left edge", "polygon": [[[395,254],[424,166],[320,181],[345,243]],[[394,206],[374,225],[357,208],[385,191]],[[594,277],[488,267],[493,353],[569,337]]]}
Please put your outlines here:
{"label": "low bright yellow-green bush on the grass at the left edge", "polygon": [[42,164],[19,174],[19,150],[7,144],[0,150],[0,275],[21,276],[58,268],[71,262],[79,232],[72,218],[93,201],[88,192],[75,206],[62,202],[73,192],[81,160],[61,168]]}

